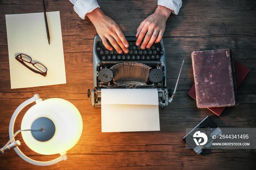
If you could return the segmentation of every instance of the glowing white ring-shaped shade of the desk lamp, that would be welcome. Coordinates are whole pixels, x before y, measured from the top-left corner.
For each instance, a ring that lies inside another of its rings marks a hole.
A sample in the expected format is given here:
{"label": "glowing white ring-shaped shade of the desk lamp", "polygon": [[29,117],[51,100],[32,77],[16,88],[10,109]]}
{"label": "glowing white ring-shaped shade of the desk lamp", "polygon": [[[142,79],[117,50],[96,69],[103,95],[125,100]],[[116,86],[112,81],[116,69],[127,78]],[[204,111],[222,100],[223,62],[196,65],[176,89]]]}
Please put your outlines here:
{"label": "glowing white ring-shaped shade of the desk lamp", "polygon": [[30,131],[23,131],[22,138],[27,146],[44,155],[61,154],[70,150],[80,139],[83,121],[78,109],[69,101],[49,98],[32,106],[24,115],[21,129],[30,129],[34,120],[48,117],[55,124],[56,132],[52,139],[39,142]]}

